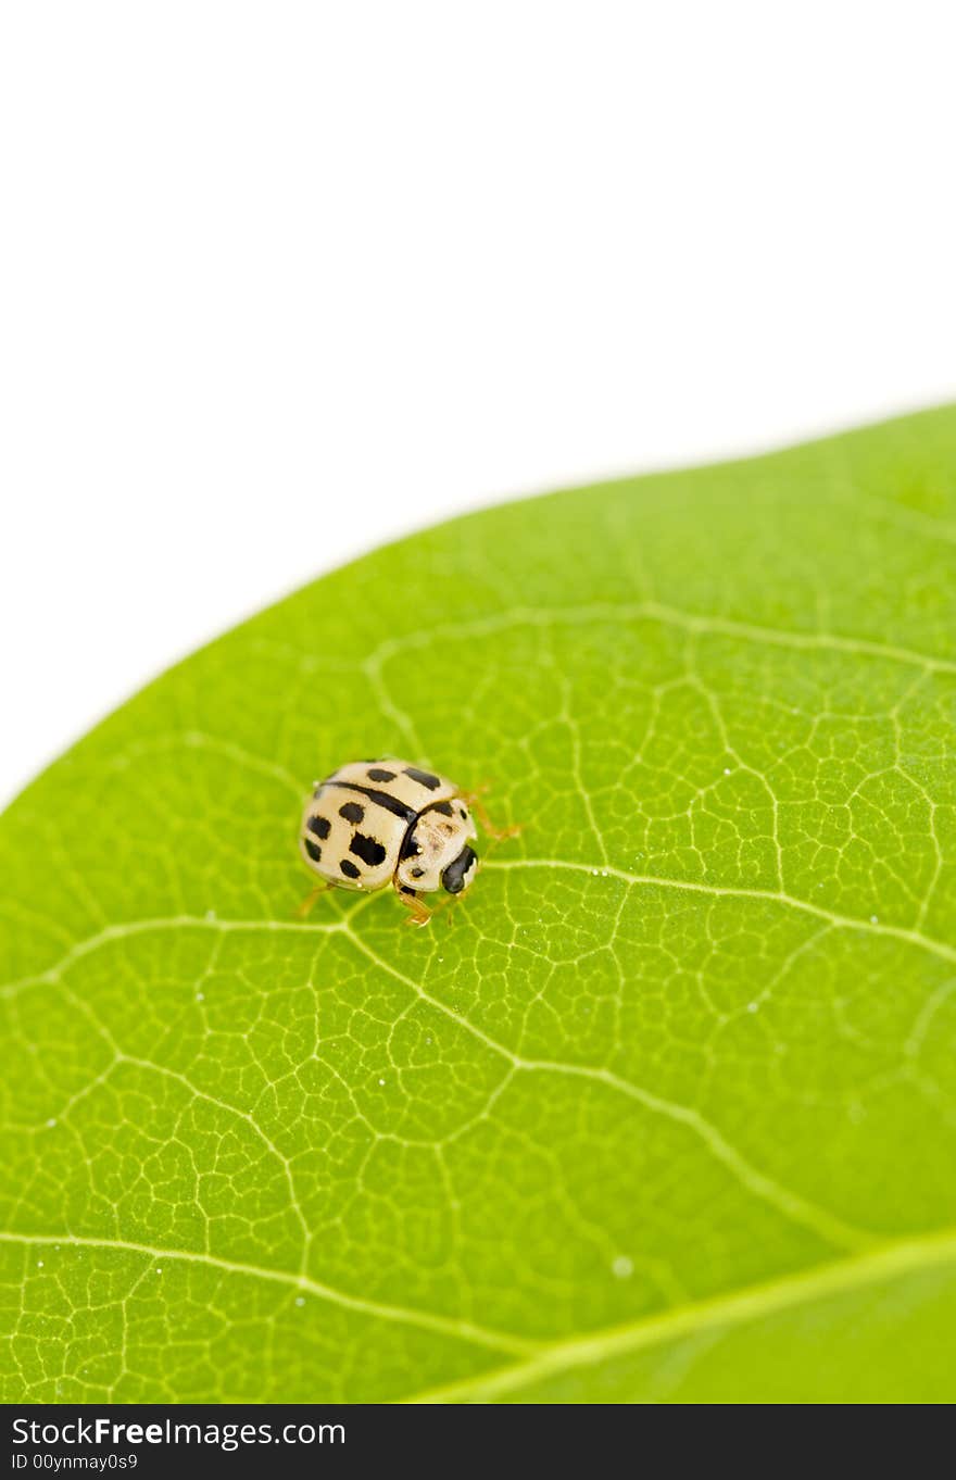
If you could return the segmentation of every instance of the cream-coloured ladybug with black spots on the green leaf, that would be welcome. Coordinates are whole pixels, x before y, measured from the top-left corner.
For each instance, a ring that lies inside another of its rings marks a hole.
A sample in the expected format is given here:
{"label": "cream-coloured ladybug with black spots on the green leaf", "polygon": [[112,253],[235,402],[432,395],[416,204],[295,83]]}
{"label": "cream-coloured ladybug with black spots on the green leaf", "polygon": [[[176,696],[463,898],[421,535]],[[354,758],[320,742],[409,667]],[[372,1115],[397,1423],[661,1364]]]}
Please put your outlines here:
{"label": "cream-coloured ladybug with black spots on the green leaf", "polygon": [[320,781],[306,802],[299,830],[302,857],[324,889],[371,894],[392,885],[408,907],[408,925],[428,925],[422,894],[463,894],[478,873],[472,810],[491,838],[514,836],[493,827],[477,793],[463,792],[435,771],[407,761],[351,761]]}

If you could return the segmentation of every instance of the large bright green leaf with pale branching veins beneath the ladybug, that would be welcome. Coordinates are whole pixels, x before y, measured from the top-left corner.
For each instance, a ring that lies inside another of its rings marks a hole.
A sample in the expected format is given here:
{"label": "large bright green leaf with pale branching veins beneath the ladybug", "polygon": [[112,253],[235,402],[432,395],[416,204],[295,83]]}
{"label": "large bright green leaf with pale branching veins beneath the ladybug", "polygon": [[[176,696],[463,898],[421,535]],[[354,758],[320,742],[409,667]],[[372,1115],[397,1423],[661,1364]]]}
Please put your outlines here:
{"label": "large bright green leaf with pale branching veins beneath the ladybug", "polygon": [[[460,519],[126,704],[0,823],[0,1396],[956,1399],[955,635],[947,408]],[[297,919],[388,752],[525,832]]]}

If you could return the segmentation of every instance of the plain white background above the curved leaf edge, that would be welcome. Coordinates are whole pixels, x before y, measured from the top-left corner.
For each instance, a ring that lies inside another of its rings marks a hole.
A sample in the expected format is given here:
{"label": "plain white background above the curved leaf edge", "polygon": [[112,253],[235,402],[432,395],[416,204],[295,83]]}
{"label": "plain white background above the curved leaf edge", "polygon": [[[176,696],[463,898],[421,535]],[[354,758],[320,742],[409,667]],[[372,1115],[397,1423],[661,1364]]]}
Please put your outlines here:
{"label": "plain white background above the curved leaf edge", "polygon": [[946,3],[0,12],[0,801],[385,539],[956,394]]}

